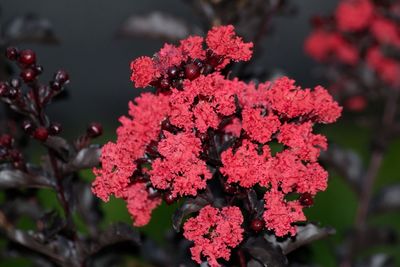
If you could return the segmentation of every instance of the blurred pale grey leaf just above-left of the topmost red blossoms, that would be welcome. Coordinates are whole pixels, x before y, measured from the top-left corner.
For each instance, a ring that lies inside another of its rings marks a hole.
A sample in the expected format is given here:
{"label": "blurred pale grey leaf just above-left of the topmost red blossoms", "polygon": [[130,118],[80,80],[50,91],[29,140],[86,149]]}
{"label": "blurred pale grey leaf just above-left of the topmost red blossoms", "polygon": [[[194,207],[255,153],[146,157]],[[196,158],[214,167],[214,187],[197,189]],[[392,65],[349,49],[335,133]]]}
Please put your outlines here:
{"label": "blurred pale grey leaf just above-left of the topmost red blossoms", "polygon": [[155,11],[146,15],[132,15],[121,25],[120,37],[148,37],[180,40],[191,34],[190,27],[181,19]]}

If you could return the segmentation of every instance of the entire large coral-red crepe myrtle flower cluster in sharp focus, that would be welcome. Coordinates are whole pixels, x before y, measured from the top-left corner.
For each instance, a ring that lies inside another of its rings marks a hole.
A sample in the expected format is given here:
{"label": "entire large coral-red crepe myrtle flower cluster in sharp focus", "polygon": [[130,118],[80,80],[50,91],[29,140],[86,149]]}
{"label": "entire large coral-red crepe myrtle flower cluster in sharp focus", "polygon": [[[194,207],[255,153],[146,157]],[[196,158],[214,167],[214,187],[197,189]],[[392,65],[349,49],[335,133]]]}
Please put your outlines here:
{"label": "entire large coral-red crepe myrtle flower cluster in sharp focus", "polygon": [[[170,204],[220,190],[236,200],[222,207],[210,200],[184,224],[193,259],[210,266],[228,261],[251,229],[296,234],[295,224],[306,220],[303,208],[327,187],[328,174],[318,164],[327,140],[313,126],[336,121],[342,109],[320,86],[303,89],[288,77],[245,83],[221,74],[230,62],[249,60],[251,48],[232,26],[221,26],[205,41],[191,36],[134,60],[134,85],[157,90],[129,103],[117,140],[103,147],[94,170],[94,194],[124,199],[135,226],[148,223],[162,199]],[[257,193],[263,215],[245,220],[243,214],[253,213],[243,213],[240,195],[256,186],[263,188]],[[299,199],[287,201],[288,194]]]}

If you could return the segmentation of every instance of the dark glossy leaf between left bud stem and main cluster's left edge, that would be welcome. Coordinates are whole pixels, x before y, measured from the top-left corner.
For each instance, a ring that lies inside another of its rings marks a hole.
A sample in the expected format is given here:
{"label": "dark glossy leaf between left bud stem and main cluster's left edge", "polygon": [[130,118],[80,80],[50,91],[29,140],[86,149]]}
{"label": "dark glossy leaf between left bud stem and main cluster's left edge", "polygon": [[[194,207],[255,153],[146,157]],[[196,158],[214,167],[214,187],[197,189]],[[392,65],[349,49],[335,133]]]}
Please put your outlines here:
{"label": "dark glossy leaf between left bud stem and main cluster's left edge", "polygon": [[64,166],[66,172],[75,172],[96,167],[100,163],[101,149],[99,146],[90,146],[81,149],[75,157]]}

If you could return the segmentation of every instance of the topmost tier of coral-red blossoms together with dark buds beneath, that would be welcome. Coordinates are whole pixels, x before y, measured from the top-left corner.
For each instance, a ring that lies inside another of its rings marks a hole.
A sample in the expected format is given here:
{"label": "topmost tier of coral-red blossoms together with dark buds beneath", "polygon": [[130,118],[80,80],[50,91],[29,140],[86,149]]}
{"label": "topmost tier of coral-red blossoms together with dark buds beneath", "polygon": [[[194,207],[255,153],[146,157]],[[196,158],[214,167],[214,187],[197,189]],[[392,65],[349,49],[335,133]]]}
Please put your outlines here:
{"label": "topmost tier of coral-red blossoms together with dark buds beneath", "polygon": [[232,25],[214,27],[205,43],[208,50],[203,49],[203,37],[191,36],[179,46],[165,44],[153,58],[132,61],[132,82],[136,87],[178,87],[180,78],[193,80],[201,73],[224,68],[230,61],[247,61],[252,55],[253,44],[236,36]]}

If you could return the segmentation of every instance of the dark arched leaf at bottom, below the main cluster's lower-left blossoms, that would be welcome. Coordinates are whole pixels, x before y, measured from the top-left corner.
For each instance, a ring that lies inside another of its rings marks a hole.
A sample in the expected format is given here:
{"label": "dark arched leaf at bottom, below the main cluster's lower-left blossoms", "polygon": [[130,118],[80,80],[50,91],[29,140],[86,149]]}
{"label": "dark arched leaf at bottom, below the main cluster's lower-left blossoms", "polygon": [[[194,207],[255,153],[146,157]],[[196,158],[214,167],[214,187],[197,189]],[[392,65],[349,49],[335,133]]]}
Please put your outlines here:
{"label": "dark arched leaf at bottom, below the main cluster's lower-left blossoms", "polygon": [[92,255],[105,247],[126,241],[131,241],[136,245],[141,244],[140,235],[132,226],[116,223],[97,235],[97,239],[90,244],[89,251]]}

